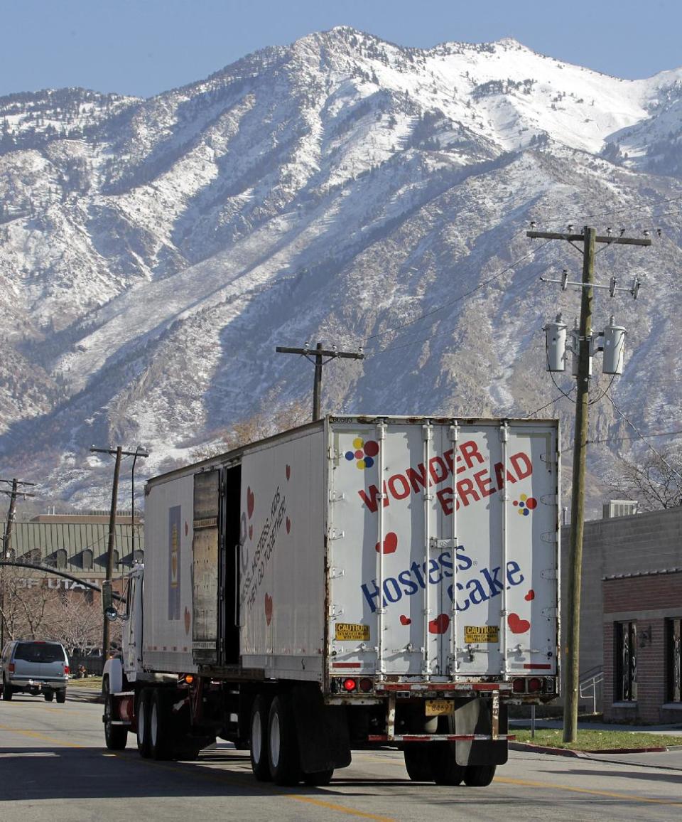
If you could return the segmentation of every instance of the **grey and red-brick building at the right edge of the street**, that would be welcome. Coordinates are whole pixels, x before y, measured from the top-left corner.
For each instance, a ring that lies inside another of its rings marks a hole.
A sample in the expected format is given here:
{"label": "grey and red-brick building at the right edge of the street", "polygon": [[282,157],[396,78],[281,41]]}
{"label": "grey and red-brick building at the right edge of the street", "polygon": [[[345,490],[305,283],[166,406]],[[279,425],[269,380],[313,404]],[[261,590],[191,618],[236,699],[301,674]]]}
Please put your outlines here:
{"label": "grey and red-brick building at the right edge of the street", "polygon": [[[564,527],[564,580],[568,549]],[[682,722],[674,650],[679,660],[682,507],[585,523],[582,582],[580,674],[583,681],[603,672],[597,710],[618,721]],[[580,701],[587,705],[590,700]]]}

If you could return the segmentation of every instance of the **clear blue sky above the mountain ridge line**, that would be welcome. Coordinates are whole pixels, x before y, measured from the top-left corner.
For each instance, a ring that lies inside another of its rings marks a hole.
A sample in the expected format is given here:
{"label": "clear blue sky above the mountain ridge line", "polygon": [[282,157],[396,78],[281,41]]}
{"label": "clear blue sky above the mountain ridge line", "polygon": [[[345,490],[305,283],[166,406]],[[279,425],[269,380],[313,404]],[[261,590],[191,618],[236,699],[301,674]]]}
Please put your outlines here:
{"label": "clear blue sky above the mountain ridge line", "polygon": [[680,0],[2,0],[0,95],[81,85],[148,97],[334,25],[400,45],[515,37],[615,76],[682,66]]}

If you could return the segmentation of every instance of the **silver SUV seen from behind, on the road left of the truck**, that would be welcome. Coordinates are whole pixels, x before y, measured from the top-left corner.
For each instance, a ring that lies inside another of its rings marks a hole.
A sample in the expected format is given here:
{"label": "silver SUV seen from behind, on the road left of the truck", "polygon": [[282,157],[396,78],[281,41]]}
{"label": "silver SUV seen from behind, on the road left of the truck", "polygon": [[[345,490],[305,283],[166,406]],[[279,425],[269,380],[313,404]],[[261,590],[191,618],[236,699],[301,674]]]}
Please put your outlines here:
{"label": "silver SUV seen from behind, on the road left of the truck", "polygon": [[46,702],[52,702],[55,696],[58,702],[67,699],[69,658],[58,642],[8,642],[0,658],[0,674],[3,700],[11,700],[12,695],[20,691],[42,693]]}

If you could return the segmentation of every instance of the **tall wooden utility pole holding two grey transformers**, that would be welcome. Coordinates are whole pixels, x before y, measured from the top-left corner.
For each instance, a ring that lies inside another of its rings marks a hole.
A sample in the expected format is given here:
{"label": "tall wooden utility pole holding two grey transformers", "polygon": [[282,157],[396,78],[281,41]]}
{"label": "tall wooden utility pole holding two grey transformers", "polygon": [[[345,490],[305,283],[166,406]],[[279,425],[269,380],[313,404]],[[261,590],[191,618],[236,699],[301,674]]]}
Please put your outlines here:
{"label": "tall wooden utility pole holding two grey transformers", "polygon": [[[585,463],[588,442],[589,416],[589,380],[590,363],[592,358],[592,296],[594,284],[594,257],[597,242],[611,244],[650,246],[651,239],[624,237],[597,236],[597,230],[585,226],[582,233],[574,233],[573,226],[569,225],[568,233],[548,231],[528,231],[527,237],[532,239],[543,238],[549,240],[565,240],[582,251],[583,279],[578,285],[582,291],[580,301],[580,323],[578,331],[578,394],[575,404],[575,431],[573,457],[573,488],[571,492],[571,522],[569,537],[569,584],[567,603],[567,626],[565,637],[565,673],[564,673],[564,742],[574,742],[578,737],[578,690],[580,686],[580,592],[583,576],[583,528],[584,528],[584,497],[585,497]],[[582,250],[575,246],[582,242]],[[541,278],[542,279],[542,278]],[[552,280],[546,280],[552,282]],[[564,290],[569,285],[568,274],[564,273],[561,282]],[[615,278],[611,278],[611,297],[617,290],[629,290],[634,298],[637,297],[639,282],[635,279],[632,289],[618,289]],[[565,328],[565,326],[564,326]],[[554,370],[554,369],[552,369]],[[556,369],[563,370],[563,369]],[[621,368],[622,370],[622,368]],[[613,373],[619,373],[615,371]]]}

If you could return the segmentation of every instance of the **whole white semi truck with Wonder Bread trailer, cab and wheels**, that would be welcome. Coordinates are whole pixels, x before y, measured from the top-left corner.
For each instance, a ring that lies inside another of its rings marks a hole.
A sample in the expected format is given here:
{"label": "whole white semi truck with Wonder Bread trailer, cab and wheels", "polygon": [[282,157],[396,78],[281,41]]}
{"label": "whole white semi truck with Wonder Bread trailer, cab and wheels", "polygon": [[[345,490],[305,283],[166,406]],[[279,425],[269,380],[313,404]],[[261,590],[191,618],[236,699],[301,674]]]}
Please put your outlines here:
{"label": "whole white semi truck with Wonder Bread trailer, cab and wheels", "polygon": [[554,420],[328,417],[150,479],[108,747],[222,737],[260,780],[324,784],[395,746],[413,779],[490,783],[508,705],[557,695],[558,443]]}

